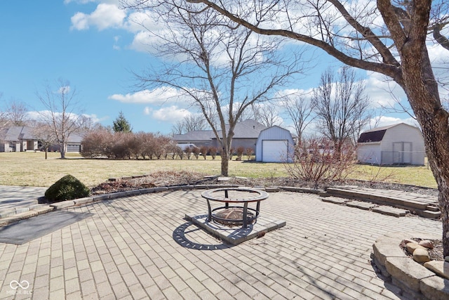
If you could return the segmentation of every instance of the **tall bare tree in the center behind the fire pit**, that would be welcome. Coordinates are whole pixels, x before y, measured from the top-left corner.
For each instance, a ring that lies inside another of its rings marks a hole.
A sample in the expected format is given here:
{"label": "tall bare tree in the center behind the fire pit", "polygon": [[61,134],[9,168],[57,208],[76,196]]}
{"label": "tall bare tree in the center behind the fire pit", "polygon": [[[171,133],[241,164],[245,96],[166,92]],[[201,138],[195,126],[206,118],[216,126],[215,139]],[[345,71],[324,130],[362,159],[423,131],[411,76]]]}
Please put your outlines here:
{"label": "tall bare tree in the center behind the fire pit", "polygon": [[[152,3],[125,2],[124,6],[142,12]],[[165,70],[138,75],[141,87],[170,86],[199,107],[221,144],[221,173],[227,176],[236,122],[250,105],[268,100],[299,73],[300,60],[281,57],[279,39],[257,36],[215,11],[196,9],[185,1],[155,2],[152,11],[165,29],[163,34],[152,32],[162,41],[157,51],[174,62],[167,62]]]}

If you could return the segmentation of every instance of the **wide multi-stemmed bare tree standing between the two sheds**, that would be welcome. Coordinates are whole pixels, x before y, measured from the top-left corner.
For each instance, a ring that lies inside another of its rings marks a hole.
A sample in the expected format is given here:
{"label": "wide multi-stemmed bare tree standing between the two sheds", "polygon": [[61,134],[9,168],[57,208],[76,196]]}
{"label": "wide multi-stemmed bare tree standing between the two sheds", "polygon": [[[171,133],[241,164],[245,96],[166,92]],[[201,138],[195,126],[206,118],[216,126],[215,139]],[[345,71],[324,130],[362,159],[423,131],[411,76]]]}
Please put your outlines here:
{"label": "wide multi-stemmed bare tree standing between the two sheds", "polygon": [[337,153],[344,142],[356,136],[370,121],[368,97],[361,81],[349,67],[342,67],[337,78],[333,70],[321,74],[320,86],[314,89],[312,103],[318,129],[334,143]]}

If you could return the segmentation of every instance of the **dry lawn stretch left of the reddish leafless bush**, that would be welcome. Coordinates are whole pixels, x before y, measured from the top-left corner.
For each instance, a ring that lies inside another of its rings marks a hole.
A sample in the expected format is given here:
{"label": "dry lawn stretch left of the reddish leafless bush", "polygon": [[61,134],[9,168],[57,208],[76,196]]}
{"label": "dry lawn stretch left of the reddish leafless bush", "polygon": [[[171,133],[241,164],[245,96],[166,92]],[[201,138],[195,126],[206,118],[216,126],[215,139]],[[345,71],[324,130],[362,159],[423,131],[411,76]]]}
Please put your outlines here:
{"label": "dry lawn stretch left of the reddish leafless bush", "polygon": [[[220,157],[217,159],[191,160],[112,160],[83,159],[80,155],[68,153],[67,159],[60,159],[59,153],[9,152],[0,153],[0,185],[48,187],[62,176],[71,174],[84,184],[93,187],[108,178],[151,174],[156,171],[184,170],[205,175],[220,174]],[[229,162],[230,176],[269,177],[286,176],[282,164],[255,164]]]}

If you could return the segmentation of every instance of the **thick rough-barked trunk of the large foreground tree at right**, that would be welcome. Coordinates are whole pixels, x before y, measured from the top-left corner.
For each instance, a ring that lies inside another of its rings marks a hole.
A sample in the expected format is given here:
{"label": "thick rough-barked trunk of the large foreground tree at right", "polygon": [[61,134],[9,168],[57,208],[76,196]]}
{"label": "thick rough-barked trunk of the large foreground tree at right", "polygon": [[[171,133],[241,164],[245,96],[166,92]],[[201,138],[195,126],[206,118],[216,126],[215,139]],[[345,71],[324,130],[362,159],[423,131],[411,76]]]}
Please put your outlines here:
{"label": "thick rough-barked trunk of the large foreground tree at right", "polygon": [[443,223],[443,255],[449,255],[449,114],[441,105],[438,85],[434,80],[427,48],[403,47],[403,89],[415,112],[424,135],[424,144],[431,171],[438,184],[438,204]]}

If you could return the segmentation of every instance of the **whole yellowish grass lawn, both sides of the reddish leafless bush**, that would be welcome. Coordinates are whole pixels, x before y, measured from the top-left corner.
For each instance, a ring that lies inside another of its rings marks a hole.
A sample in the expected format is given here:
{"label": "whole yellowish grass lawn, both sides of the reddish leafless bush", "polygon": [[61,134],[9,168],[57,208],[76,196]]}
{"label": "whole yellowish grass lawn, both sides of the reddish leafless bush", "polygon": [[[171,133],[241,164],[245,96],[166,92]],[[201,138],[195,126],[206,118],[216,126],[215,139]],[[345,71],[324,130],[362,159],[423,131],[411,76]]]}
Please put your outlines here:
{"label": "whole yellowish grass lawn, both sides of the reddish leafless bush", "polygon": [[[109,160],[83,159],[77,153],[60,154],[44,152],[0,152],[0,185],[48,187],[62,176],[71,174],[81,182],[93,187],[108,178],[150,174],[155,171],[185,170],[205,175],[220,174],[220,157],[213,160],[203,157],[191,160]],[[229,162],[229,176],[282,177],[288,176],[283,164],[258,162]],[[436,182],[427,167],[371,167],[354,166],[349,178],[389,181],[436,188]]]}

